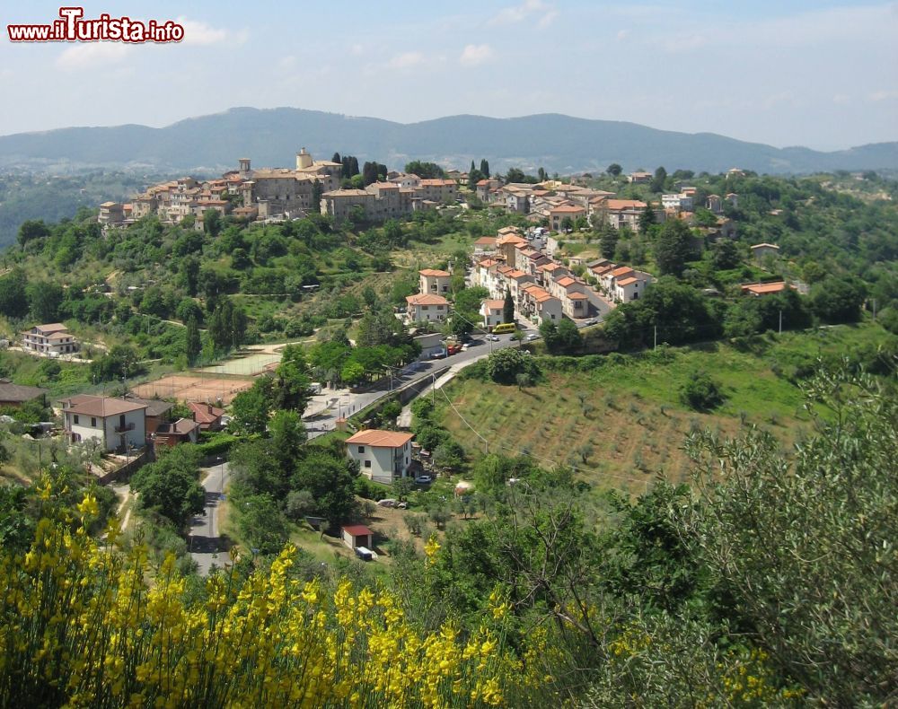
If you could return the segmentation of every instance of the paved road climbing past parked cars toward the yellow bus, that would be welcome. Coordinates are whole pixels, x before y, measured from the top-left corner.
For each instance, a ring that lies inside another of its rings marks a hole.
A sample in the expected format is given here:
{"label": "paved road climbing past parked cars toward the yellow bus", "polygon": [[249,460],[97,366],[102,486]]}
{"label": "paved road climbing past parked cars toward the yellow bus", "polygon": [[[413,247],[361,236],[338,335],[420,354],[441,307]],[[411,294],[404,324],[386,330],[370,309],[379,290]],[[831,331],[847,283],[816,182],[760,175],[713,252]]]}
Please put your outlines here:
{"label": "paved road climbing past parked cars toward the yellow bus", "polygon": [[[392,390],[398,389],[404,384],[430,379],[433,376],[433,372],[444,369],[447,366],[460,369],[461,366],[470,364],[474,360],[480,359],[483,355],[489,354],[491,351],[515,345],[515,340],[511,338],[511,335],[499,335],[497,337],[499,337],[498,342],[492,342],[482,337],[475,337],[469,349],[460,352],[457,355],[450,355],[448,357],[443,357],[442,359],[417,363],[414,372],[408,371],[407,368],[406,372],[408,373],[393,377],[392,381],[389,379],[383,381],[381,385],[373,391],[366,391],[362,394],[352,394],[348,390],[324,390],[320,396],[314,397],[313,405],[309,407],[312,414],[304,417],[305,428],[309,433],[309,438],[315,438],[322,433],[333,431],[339,416],[352,416],[369,404],[377,401],[377,399],[388,396]],[[333,398],[338,399],[337,404],[333,407],[324,409],[324,402]]]}

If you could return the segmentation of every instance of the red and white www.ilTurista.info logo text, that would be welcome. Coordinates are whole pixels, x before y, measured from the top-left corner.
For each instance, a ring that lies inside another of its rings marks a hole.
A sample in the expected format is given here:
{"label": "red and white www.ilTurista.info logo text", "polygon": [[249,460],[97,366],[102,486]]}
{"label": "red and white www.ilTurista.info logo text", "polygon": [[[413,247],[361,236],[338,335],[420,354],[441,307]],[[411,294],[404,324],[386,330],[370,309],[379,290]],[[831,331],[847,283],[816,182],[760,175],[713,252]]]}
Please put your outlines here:
{"label": "red and white www.ilTurista.info logo text", "polygon": [[8,24],[11,42],[180,42],[184,28],[171,20],[132,20],[103,13],[84,20],[83,7],[60,7],[59,19],[48,24]]}

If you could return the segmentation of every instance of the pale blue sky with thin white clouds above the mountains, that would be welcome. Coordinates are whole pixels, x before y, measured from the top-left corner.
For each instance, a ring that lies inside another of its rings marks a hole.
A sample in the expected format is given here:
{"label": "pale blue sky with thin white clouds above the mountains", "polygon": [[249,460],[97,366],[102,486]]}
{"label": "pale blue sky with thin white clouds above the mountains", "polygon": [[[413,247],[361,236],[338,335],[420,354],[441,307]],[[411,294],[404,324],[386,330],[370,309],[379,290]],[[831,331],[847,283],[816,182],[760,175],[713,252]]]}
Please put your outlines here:
{"label": "pale blue sky with thin white clouds above the mountains", "polygon": [[163,127],[235,106],[412,123],[564,113],[785,147],[898,140],[898,2],[104,2],[178,44],[13,43],[59,4],[0,2],[0,135]]}

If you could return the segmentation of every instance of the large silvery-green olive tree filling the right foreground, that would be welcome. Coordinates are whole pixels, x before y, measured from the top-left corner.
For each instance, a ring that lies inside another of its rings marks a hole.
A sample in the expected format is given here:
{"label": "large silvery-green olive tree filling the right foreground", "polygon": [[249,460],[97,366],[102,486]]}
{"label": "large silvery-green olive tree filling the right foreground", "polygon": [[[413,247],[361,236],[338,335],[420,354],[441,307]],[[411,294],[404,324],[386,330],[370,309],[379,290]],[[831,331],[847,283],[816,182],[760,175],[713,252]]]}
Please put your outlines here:
{"label": "large silvery-green olive tree filling the right foreground", "polygon": [[848,366],[822,370],[805,398],[814,433],[785,455],[756,430],[735,441],[691,435],[694,503],[668,509],[729,623],[799,683],[804,701],[887,705],[898,637],[898,399]]}

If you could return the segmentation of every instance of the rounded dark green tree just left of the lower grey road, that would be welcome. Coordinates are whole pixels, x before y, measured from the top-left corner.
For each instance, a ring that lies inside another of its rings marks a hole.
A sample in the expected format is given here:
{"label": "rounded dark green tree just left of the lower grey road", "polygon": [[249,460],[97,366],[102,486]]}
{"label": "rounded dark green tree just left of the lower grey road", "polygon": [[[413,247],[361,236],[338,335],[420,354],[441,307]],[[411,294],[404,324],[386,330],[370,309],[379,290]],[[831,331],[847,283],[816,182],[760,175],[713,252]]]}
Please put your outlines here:
{"label": "rounded dark green tree just left of the lower grey road", "polygon": [[190,517],[206,506],[206,491],[198,482],[198,453],[187,445],[175,446],[160,459],[137,470],[131,487],[144,509],[159,512],[182,531]]}

